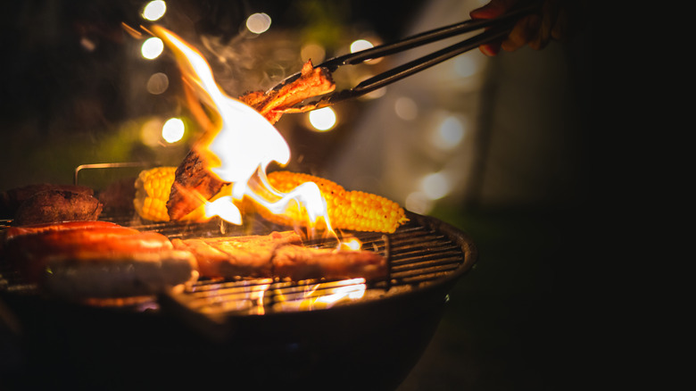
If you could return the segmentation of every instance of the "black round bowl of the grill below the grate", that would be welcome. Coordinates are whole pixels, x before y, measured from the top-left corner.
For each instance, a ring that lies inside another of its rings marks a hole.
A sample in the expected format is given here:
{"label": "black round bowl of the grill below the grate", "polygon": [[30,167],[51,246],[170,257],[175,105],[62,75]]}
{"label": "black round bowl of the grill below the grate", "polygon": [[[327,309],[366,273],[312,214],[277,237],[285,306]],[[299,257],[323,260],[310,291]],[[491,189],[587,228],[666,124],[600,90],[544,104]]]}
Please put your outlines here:
{"label": "black round bowl of the grill below the grate", "polygon": [[162,295],[155,310],[133,311],[0,289],[21,325],[11,352],[18,358],[5,370],[5,384],[395,389],[433,337],[448,293],[477,258],[476,246],[460,230],[431,217],[409,217],[404,230],[422,228],[440,240],[419,244],[418,257],[436,259],[446,241],[460,254],[456,267],[408,289],[387,287],[377,298],[324,310],[211,317],[176,295]]}

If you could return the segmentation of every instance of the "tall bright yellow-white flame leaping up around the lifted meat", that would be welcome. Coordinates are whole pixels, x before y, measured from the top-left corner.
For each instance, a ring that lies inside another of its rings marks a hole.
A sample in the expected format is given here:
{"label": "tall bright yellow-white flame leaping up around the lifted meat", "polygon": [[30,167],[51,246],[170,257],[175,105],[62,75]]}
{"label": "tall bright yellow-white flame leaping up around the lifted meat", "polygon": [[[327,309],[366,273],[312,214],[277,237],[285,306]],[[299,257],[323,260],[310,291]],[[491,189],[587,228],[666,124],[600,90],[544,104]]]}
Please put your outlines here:
{"label": "tall bright yellow-white flame leaping up around the lifted meat", "polygon": [[290,147],[278,129],[253,107],[225,94],[215,82],[203,54],[162,26],[155,25],[151,30],[174,53],[182,77],[195,98],[217,115],[211,121],[203,118],[200,107],[193,108],[196,118],[208,128],[201,148],[206,153],[208,169],[232,184],[230,196],[221,196],[205,204],[206,216],[218,215],[241,224],[242,212],[237,204],[244,196],[273,213],[285,212],[289,204],[297,203],[307,211],[311,227],[323,220],[327,232],[337,237],[328,219],[326,200],[315,183],[304,183],[289,193],[282,193],[269,184],[266,169],[270,162],[280,165],[290,162]]}

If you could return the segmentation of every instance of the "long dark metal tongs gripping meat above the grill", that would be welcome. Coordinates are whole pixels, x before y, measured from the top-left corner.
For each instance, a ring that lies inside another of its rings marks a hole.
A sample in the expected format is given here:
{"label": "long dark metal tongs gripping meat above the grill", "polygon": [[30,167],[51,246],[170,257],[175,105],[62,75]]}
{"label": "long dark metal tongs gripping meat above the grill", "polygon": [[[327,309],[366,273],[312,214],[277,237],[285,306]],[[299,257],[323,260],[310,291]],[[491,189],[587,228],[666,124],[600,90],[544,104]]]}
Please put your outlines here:
{"label": "long dark metal tongs gripping meat above the grill", "polygon": [[[512,29],[515,22],[518,21],[520,17],[538,9],[539,4],[534,2],[532,5],[515,9],[495,19],[471,19],[468,21],[460,21],[459,23],[454,23],[438,29],[431,29],[411,37],[406,37],[390,44],[375,46],[360,52],[330,58],[325,62],[315,65],[314,68],[323,67],[329,72],[334,72],[345,65],[356,65],[361,62],[375,60],[390,54],[402,53],[415,47],[424,46],[445,38],[455,37],[460,34],[475,31],[477,29],[485,29],[484,32],[461,41],[458,44],[447,46],[432,54],[427,54],[411,62],[404,63],[392,70],[379,73],[376,76],[363,80],[355,87],[334,91],[322,96],[319,101],[315,101],[310,104],[302,104],[301,106],[290,107],[289,109],[284,110],[284,112],[310,112],[312,110],[343,102],[346,99],[352,99],[369,94],[377,88],[385,87],[388,84],[394,83],[394,81],[404,79],[414,73],[426,70],[427,68],[448,60],[456,55],[468,52],[469,50],[478,46],[485,45],[506,37],[508,34],[510,34],[510,29]],[[278,83],[278,85],[275,87],[272,87],[270,90],[278,90],[286,84],[299,79],[300,76],[300,72],[294,73]]]}

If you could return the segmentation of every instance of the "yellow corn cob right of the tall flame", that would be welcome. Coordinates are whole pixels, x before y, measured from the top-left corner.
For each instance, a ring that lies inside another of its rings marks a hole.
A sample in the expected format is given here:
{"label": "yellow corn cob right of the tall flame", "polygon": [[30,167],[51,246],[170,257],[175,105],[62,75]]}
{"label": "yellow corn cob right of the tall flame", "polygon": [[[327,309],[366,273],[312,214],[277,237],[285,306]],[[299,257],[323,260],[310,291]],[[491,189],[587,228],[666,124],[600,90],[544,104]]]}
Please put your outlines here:
{"label": "yellow corn cob right of the tall flame", "polygon": [[[284,193],[304,182],[316,183],[327,201],[328,218],[334,229],[392,233],[408,221],[403,208],[394,201],[362,191],[347,191],[328,179],[290,171],[271,172],[268,179],[273,187]],[[291,204],[286,212],[280,215],[274,215],[262,208],[257,209],[265,219],[273,222],[288,224],[303,223],[307,220],[296,204]]]}

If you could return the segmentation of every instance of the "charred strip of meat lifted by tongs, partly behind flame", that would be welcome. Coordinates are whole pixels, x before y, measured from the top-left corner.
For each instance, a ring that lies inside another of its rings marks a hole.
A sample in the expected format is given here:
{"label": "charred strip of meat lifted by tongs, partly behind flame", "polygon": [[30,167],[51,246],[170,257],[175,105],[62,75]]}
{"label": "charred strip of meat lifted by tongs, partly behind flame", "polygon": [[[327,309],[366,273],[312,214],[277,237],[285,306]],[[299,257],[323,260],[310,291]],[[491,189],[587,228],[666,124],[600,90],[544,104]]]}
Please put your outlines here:
{"label": "charred strip of meat lifted by tongs, partly behind flame", "polygon": [[[270,123],[276,123],[288,108],[307,98],[325,95],[335,88],[331,74],[325,68],[314,68],[311,61],[308,61],[302,66],[301,76],[293,82],[265,93],[249,92],[240,96],[239,100],[252,106]],[[197,150],[197,146],[178,165],[167,202],[171,220],[183,219],[189,212],[217,195],[226,185],[207,167],[205,153]]]}

